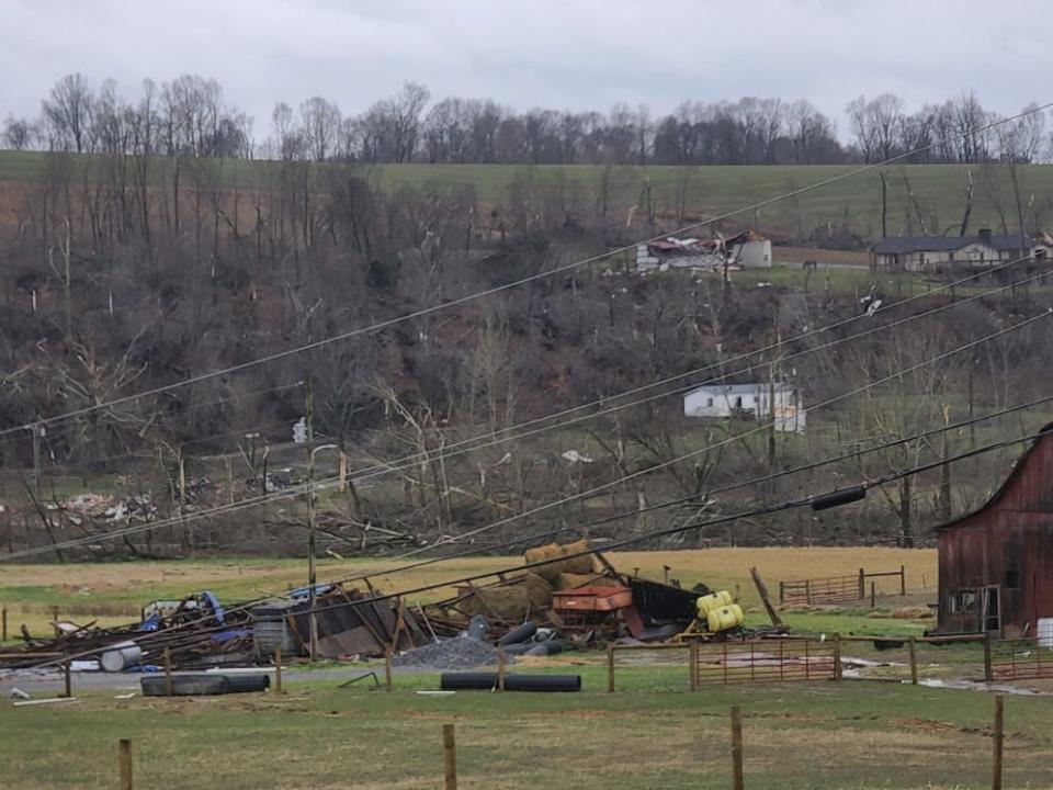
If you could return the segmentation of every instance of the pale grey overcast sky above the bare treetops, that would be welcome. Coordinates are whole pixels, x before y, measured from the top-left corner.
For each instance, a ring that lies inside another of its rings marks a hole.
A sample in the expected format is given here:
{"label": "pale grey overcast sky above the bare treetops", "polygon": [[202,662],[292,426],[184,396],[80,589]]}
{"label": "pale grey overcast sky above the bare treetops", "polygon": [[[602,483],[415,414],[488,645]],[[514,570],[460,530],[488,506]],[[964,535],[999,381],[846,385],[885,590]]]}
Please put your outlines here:
{"label": "pale grey overcast sky above the bare treetops", "polygon": [[35,115],[63,75],[218,80],[267,135],[278,100],[358,113],[398,90],[520,110],[859,94],[913,109],[975,90],[1010,114],[1053,98],[1042,0],[0,0],[0,116]]}

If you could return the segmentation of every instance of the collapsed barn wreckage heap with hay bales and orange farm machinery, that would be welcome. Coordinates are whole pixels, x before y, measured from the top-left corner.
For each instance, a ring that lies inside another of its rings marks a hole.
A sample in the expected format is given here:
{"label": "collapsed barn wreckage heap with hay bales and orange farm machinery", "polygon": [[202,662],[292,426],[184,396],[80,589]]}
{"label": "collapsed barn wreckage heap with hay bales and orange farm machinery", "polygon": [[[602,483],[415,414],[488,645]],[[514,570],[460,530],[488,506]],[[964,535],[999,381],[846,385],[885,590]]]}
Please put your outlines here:
{"label": "collapsed barn wreckage heap with hay bales and orange farm machinery", "polygon": [[[524,560],[514,568],[443,584],[455,594],[428,605],[382,594],[369,579],[360,579],[366,589],[319,585],[315,653],[330,659],[405,654],[466,633],[509,653],[532,655],[622,636],[665,640],[694,624],[699,601],[710,592],[704,585],[684,590],[675,583],[626,576],[584,540],[532,549]],[[480,584],[486,577],[494,580]],[[107,670],[162,661],[183,669],[267,664],[279,648],[285,657],[309,655],[312,614],[308,589],[226,607],[201,591],[179,601],[154,601],[144,607],[139,622],[120,628],[56,622],[54,639],[23,629],[24,644],[0,651],[0,666],[72,659]]]}

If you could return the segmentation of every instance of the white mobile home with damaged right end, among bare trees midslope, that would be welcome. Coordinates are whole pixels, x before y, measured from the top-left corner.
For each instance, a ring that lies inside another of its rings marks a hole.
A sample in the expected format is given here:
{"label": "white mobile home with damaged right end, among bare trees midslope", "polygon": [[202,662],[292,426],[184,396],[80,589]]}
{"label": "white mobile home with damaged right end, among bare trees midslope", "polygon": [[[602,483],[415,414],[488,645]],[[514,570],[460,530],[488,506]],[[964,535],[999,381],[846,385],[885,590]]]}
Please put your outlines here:
{"label": "white mobile home with damaged right end, among bare trees midslope", "polygon": [[703,384],[683,396],[684,417],[727,419],[734,415],[749,415],[758,420],[771,419],[775,430],[804,433],[806,413],[797,391],[789,384],[774,385],[774,409],[771,407],[772,386],[757,384]]}

